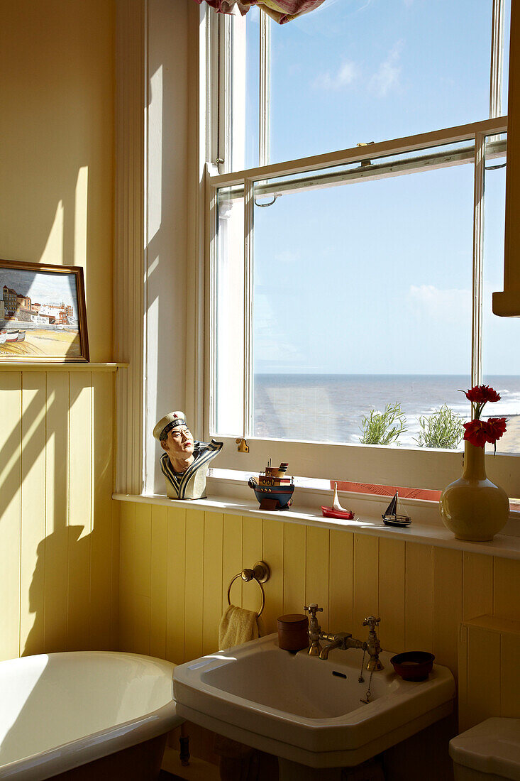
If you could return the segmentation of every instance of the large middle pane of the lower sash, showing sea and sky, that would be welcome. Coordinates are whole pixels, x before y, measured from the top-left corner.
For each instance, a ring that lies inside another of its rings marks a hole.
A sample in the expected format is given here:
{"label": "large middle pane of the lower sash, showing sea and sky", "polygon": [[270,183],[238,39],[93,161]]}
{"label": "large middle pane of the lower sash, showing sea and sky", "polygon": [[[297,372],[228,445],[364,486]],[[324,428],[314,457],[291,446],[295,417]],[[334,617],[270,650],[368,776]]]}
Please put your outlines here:
{"label": "large middle pane of the lower sash, showing sea and sky", "polygon": [[447,404],[471,363],[473,168],[283,194],[255,208],[254,433],[359,442],[371,408]]}

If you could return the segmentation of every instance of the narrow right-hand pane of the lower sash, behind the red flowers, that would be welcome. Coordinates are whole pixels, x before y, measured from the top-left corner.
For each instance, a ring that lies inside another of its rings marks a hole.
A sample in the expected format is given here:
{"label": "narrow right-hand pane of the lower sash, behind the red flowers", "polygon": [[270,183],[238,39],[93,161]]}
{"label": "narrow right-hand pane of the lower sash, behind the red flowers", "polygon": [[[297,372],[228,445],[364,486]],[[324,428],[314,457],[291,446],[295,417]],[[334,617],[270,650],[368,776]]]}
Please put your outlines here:
{"label": "narrow right-hand pane of the lower sash, behind the red flowers", "polygon": [[[486,166],[500,166],[505,157],[490,159]],[[493,291],[504,290],[505,168],[486,170],[483,279],[483,381],[502,397],[488,404],[484,417],[508,418],[508,430],[497,442],[497,451],[520,452],[520,322],[515,317],[493,315]]]}

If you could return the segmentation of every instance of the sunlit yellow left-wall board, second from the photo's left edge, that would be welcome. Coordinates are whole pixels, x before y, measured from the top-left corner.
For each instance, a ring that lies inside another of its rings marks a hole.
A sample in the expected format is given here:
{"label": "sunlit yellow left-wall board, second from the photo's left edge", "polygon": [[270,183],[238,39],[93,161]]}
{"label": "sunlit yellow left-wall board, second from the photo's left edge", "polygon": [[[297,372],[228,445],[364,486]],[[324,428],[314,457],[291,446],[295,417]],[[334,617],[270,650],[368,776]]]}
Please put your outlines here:
{"label": "sunlit yellow left-wall board, second from the photo's left edge", "polygon": [[[45,373],[22,375],[20,653],[44,647]],[[38,554],[38,546],[41,545]]]}

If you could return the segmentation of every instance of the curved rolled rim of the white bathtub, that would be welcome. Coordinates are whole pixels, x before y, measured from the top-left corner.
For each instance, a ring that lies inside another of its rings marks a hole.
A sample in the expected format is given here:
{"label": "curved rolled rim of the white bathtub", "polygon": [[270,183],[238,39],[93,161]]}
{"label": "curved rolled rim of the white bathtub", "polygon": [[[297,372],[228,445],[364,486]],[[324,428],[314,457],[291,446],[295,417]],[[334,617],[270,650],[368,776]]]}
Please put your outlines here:
{"label": "curved rolled rim of the white bathtub", "polygon": [[[87,762],[102,759],[116,751],[144,743],[145,740],[168,733],[180,726],[185,719],[176,713],[176,701],[173,699],[173,670],[176,665],[154,656],[145,654],[132,654],[127,651],[59,651],[54,654],[33,654],[20,657],[20,663],[24,659],[34,656],[47,657],[80,657],[80,656],[119,656],[132,659],[142,659],[146,662],[159,664],[165,672],[172,677],[172,700],[155,711],[149,711],[139,719],[121,722],[106,729],[100,729],[91,735],[71,740],[69,743],[60,744],[41,751],[40,754],[30,754],[27,757],[16,759],[6,765],[0,765],[0,779],[19,779],[19,781],[45,781],[59,773],[73,770]],[[19,660],[5,660],[19,661]],[[1,662],[0,662],[1,664]]]}

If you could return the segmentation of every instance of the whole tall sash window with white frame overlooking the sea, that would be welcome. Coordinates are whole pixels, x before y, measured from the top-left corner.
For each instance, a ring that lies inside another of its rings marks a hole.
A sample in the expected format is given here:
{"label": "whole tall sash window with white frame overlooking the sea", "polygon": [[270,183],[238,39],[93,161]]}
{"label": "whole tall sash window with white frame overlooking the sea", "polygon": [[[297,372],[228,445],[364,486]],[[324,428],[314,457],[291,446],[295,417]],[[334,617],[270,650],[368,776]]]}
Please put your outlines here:
{"label": "whole tall sash window with white frame overlooking the sea", "polygon": [[[467,417],[458,388],[483,379],[520,412],[511,329],[489,301],[508,3],[426,6],[332,0],[280,29],[258,9],[212,20],[211,159],[224,162],[207,177],[206,429],[229,437],[219,465],[244,468],[246,437],[258,466],[443,487],[460,456],[418,448],[422,415],[447,404]],[[362,419],[396,403],[406,430],[390,456],[361,443]]]}

